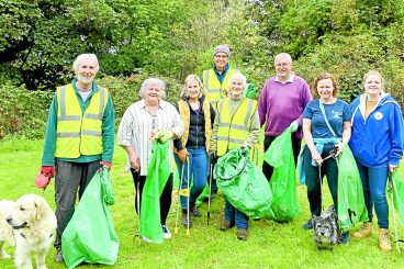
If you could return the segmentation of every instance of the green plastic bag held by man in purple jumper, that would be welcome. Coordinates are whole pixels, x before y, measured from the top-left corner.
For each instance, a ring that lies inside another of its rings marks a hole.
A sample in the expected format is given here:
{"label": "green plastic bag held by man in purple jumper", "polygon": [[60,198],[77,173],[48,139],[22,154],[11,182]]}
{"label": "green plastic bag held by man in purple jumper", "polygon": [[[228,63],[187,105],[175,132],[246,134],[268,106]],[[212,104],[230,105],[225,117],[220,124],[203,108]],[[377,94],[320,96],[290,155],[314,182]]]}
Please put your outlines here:
{"label": "green plastic bag held by man in purple jumper", "polygon": [[291,221],[300,213],[300,206],[290,128],[272,142],[263,155],[263,160],[273,167],[269,182],[273,198],[270,218],[278,222]]}

